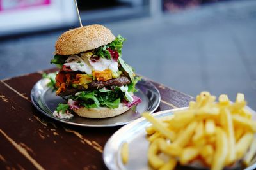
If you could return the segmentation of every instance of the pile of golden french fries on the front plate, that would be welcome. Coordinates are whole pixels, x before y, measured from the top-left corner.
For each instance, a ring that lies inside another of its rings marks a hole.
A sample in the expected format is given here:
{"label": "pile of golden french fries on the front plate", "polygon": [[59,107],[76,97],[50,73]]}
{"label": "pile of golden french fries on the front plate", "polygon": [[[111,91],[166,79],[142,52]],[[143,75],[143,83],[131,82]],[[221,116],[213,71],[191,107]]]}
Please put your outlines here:
{"label": "pile of golden french fries on the front plate", "polygon": [[256,161],[256,122],[245,107],[244,94],[237,94],[234,103],[225,94],[215,100],[209,92],[201,92],[188,110],[170,117],[159,120],[143,113],[152,123],[146,132],[148,163],[153,169],[174,169],[178,162],[199,161],[217,170],[239,160],[246,166]]}

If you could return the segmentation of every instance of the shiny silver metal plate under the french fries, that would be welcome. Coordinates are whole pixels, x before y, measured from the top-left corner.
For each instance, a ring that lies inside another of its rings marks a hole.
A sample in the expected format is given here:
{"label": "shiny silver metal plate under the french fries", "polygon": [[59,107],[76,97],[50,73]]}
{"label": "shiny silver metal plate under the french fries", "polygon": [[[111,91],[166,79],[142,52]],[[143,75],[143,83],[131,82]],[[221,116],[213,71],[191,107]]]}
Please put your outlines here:
{"label": "shiny silver metal plate under the french fries", "polygon": [[[174,111],[186,110],[186,108],[175,108],[166,113],[153,114],[156,118],[163,118],[170,116]],[[256,113],[252,109],[248,108],[253,113],[253,119],[256,119]],[[145,127],[151,125],[145,118],[141,117],[130,124],[125,125],[109,138],[108,142],[104,146],[103,159],[104,163],[110,170],[120,169],[152,169],[148,166],[147,152],[149,143],[147,141],[147,133]],[[129,161],[127,164],[122,163],[121,148],[124,142],[129,145]],[[239,165],[237,165],[239,166]],[[254,165],[256,166],[256,164]],[[200,162],[190,164],[189,167],[205,169]],[[234,168],[230,168],[234,169]],[[236,168],[235,168],[236,169]],[[248,170],[253,169],[252,166]]]}

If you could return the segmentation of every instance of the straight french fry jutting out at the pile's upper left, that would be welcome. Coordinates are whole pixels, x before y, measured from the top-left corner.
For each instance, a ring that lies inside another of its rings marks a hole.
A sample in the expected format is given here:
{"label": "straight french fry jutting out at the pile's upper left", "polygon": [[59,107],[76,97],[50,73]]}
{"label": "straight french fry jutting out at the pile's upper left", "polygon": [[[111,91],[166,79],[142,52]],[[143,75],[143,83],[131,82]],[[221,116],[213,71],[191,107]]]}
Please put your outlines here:
{"label": "straight french fry jutting out at the pile's upper left", "polygon": [[171,131],[167,127],[165,127],[159,120],[155,119],[150,115],[148,112],[142,113],[142,116],[147,118],[149,122],[152,123],[152,125],[159,131],[161,134],[166,136],[166,138],[170,139],[173,141],[175,139],[175,132]]}

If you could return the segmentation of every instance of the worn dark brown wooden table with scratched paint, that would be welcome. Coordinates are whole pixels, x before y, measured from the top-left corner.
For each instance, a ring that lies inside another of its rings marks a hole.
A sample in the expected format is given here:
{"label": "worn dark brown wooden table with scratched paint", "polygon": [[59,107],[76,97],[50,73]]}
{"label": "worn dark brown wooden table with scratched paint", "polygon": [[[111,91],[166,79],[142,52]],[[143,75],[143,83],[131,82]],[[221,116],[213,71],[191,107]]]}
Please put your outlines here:
{"label": "worn dark brown wooden table with scratched paint", "polygon": [[[77,127],[45,117],[29,97],[42,73],[0,81],[0,169],[106,169],[103,148],[120,127]],[[193,100],[152,83],[161,94],[156,111],[188,106]]]}

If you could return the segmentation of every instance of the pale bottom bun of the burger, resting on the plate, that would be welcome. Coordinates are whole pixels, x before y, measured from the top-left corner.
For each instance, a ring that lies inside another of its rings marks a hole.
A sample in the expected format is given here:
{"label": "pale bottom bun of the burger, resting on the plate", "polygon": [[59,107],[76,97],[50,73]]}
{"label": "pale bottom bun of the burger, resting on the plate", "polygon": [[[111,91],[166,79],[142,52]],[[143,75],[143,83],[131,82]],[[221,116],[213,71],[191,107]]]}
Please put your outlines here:
{"label": "pale bottom bun of the burger, resting on the plate", "polygon": [[107,117],[115,117],[117,115],[120,115],[124,113],[125,111],[129,110],[127,106],[124,106],[124,104],[119,104],[118,108],[111,109],[111,108],[105,108],[105,107],[99,107],[99,108],[79,108],[74,110],[77,115],[81,117],[86,118],[107,118]]}

